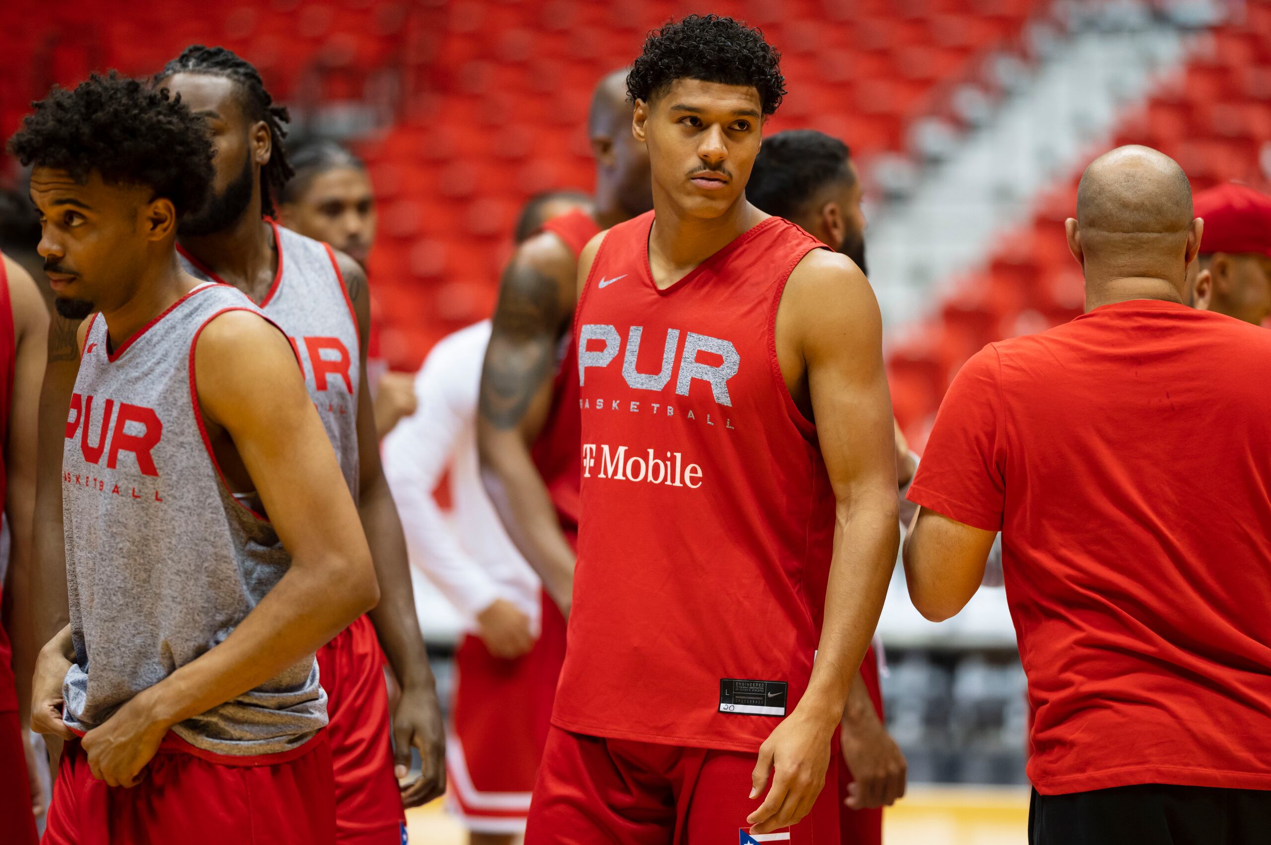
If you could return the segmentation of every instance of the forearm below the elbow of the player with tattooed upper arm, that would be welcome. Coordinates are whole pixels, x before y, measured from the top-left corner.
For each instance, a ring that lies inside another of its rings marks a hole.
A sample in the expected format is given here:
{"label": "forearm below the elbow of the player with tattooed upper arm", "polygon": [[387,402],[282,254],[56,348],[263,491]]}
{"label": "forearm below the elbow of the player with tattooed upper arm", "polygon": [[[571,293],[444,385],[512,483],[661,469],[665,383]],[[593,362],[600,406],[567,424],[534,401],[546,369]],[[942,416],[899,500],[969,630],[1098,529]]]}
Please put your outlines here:
{"label": "forearm below the elbow of the player with tattooed upper arm", "polygon": [[483,436],[482,480],[503,527],[543,581],[548,595],[568,607],[573,595],[574,553],[561,529],[543,477],[515,431]]}

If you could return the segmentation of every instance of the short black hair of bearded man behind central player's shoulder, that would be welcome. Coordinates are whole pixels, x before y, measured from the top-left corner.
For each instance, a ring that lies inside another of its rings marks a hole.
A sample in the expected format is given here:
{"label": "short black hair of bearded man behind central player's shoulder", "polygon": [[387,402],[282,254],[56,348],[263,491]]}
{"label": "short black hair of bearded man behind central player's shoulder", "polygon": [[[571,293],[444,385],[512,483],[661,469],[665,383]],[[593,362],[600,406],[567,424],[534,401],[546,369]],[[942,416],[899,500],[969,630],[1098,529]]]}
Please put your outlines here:
{"label": "short black hair of bearded man behind central player's shoulder", "polygon": [[764,139],[746,183],[746,199],[760,211],[794,220],[817,192],[852,179],[852,151],[816,130],[787,130]]}

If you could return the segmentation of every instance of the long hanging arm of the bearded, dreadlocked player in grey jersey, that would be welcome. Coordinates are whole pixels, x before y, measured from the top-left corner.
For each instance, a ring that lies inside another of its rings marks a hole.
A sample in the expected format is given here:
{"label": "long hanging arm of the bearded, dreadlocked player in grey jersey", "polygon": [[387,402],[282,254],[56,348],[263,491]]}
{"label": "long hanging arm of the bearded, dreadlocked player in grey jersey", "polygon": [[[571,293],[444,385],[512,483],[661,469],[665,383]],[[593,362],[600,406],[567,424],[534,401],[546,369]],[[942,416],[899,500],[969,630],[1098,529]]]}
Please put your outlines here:
{"label": "long hanging arm of the bearded, dreadlocked player in grey jersey", "polygon": [[[336,253],[336,260],[353,302],[358,337],[366,338],[371,325],[371,296],[366,287],[366,273],[343,253]],[[445,790],[441,706],[437,703],[432,668],[428,666],[428,651],[419,632],[419,616],[414,609],[405,535],[380,463],[375,409],[370,390],[366,389],[367,346],[358,346],[362,389],[357,399],[357,510],[380,586],[380,604],[371,610],[370,616],[384,654],[402,685],[402,699],[393,714],[398,776],[407,774],[403,769],[409,767],[412,745],[419,748],[423,760],[419,780],[403,792],[405,804],[414,807]]]}

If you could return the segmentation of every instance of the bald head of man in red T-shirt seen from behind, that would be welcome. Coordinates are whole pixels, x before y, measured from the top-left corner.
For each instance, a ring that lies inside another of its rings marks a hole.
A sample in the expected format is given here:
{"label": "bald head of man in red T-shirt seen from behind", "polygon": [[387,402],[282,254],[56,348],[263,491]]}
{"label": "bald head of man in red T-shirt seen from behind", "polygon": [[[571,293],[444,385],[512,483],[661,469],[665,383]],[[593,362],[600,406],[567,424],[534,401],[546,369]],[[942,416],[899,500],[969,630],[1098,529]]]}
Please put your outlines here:
{"label": "bald head of man in red T-shirt seen from behind", "polygon": [[1200,245],[1187,175],[1168,155],[1136,145],[1085,168],[1068,230],[1087,287],[1145,278],[1182,290]]}

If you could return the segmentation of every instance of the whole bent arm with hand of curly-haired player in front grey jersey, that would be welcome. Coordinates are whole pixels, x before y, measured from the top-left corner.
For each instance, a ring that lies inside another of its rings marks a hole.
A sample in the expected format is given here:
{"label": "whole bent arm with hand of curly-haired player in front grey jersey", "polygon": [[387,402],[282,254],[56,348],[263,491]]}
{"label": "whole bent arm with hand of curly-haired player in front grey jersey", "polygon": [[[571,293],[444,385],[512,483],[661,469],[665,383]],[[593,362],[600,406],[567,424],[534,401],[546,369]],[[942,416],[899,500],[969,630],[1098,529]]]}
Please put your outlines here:
{"label": "whole bent arm with hand of curly-haired player in front grey jersey", "polygon": [[370,550],[287,339],[254,314],[215,318],[194,348],[208,435],[228,435],[291,565],[220,643],[84,737],[94,774],[132,785],[167,731],[313,654],[379,598]]}

